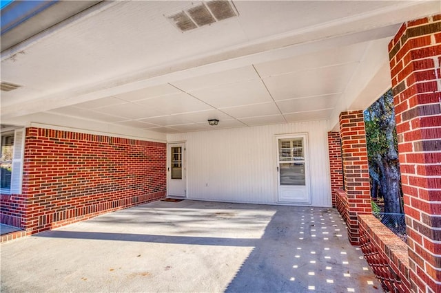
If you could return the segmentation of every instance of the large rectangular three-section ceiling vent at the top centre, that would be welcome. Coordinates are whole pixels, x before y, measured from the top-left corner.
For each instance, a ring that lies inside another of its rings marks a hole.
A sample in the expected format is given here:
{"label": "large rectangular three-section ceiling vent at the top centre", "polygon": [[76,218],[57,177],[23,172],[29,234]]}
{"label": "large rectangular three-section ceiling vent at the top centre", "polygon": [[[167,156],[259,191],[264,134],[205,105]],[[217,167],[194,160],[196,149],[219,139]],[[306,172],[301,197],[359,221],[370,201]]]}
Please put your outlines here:
{"label": "large rectangular three-section ceiling vent at the top centre", "polygon": [[168,14],[169,19],[181,32],[187,32],[210,25],[217,21],[223,21],[231,17],[237,17],[238,12],[232,1],[214,0],[198,3],[180,12]]}

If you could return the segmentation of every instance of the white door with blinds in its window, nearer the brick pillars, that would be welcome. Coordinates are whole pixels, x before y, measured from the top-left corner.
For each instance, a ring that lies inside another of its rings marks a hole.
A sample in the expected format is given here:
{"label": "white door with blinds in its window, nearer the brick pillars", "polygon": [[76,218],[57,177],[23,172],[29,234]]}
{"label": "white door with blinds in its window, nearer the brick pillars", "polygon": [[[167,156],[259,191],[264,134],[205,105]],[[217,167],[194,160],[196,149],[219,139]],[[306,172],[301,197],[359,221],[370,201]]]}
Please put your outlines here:
{"label": "white door with blinds in its window, nearer the brick pillars", "polygon": [[311,204],[307,134],[278,136],[278,201]]}

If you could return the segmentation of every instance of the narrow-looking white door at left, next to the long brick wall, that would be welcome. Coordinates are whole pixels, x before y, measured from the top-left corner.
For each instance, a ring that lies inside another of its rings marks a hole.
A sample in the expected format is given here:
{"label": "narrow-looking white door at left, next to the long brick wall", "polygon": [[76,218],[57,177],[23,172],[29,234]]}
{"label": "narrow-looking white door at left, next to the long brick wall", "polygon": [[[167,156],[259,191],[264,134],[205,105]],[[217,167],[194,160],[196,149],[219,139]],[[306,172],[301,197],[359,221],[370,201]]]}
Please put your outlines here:
{"label": "narrow-looking white door at left, next to the long brick wall", "polygon": [[185,143],[168,144],[167,195],[185,197]]}

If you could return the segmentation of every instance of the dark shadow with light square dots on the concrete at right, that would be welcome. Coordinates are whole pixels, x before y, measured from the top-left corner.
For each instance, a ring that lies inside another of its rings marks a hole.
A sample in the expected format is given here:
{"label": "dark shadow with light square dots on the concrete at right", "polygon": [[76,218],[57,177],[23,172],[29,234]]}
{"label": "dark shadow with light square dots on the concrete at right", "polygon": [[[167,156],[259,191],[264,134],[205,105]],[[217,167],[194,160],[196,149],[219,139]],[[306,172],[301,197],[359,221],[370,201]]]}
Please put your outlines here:
{"label": "dark shadow with light square dots on the concrete at right", "polygon": [[382,292],[345,230],[334,209],[279,208],[225,292]]}

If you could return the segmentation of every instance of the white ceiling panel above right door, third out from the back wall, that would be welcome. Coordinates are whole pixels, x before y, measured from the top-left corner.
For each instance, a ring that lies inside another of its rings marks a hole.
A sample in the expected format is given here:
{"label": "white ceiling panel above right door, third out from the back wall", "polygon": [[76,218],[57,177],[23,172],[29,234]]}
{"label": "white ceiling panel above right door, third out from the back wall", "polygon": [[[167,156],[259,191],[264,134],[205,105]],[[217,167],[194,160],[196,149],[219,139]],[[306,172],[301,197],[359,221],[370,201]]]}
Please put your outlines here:
{"label": "white ceiling panel above right door, third out from the back wall", "polygon": [[358,63],[264,78],[274,100],[337,94],[345,90]]}

